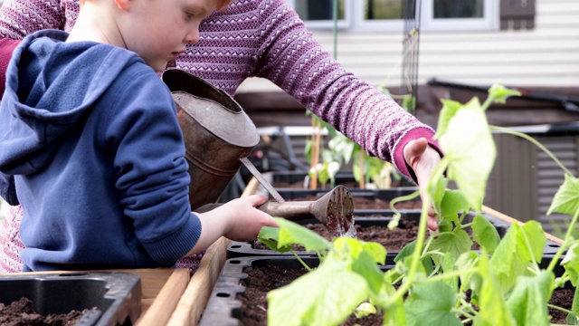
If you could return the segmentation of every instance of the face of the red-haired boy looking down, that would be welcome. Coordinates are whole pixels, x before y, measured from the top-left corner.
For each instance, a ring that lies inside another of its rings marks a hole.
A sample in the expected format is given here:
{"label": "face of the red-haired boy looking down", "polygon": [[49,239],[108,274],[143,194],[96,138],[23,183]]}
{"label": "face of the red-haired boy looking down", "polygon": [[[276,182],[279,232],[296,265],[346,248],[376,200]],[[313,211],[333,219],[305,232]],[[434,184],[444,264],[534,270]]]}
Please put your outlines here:
{"label": "face of the red-haired boy looking down", "polygon": [[199,40],[199,23],[219,5],[223,0],[134,0],[124,42],[155,71],[162,71],[185,51],[186,43]]}

